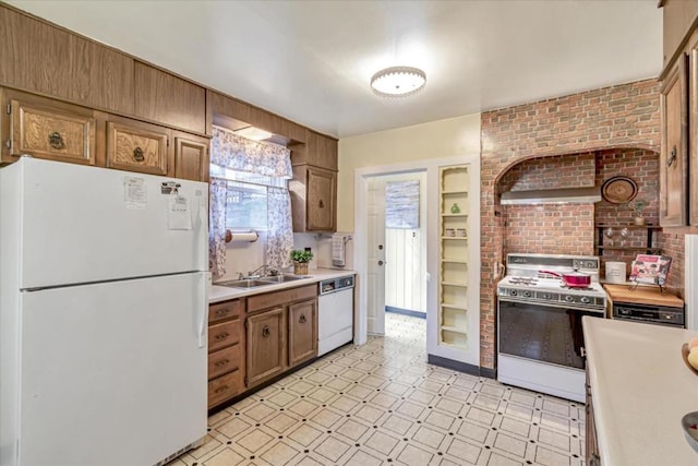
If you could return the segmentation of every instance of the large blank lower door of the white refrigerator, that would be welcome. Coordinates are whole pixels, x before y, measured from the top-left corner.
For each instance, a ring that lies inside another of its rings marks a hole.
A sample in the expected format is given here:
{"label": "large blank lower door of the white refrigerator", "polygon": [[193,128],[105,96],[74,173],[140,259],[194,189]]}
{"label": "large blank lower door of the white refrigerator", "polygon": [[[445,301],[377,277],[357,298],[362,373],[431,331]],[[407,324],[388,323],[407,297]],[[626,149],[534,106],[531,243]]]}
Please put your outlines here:
{"label": "large blank lower door of the white refrigerator", "polygon": [[22,466],[152,465],[206,434],[203,273],[21,300]]}

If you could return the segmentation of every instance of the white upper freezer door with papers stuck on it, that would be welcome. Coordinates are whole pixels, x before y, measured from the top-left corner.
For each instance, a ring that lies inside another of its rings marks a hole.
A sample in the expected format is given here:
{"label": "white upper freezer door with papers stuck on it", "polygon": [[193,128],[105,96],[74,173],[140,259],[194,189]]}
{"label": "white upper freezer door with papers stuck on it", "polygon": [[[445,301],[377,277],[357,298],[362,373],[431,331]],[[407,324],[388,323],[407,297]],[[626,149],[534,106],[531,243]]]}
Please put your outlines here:
{"label": "white upper freezer door with papers stuck on it", "polygon": [[208,270],[206,183],[28,157],[0,170],[10,178],[21,289]]}

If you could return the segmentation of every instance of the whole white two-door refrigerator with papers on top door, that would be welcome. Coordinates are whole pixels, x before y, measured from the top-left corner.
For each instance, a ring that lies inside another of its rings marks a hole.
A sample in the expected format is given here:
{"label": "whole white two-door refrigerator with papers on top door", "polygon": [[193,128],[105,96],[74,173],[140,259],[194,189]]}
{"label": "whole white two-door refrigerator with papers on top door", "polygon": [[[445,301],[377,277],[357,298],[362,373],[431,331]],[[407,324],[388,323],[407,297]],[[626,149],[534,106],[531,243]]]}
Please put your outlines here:
{"label": "whole white two-door refrigerator with papers on top door", "polygon": [[206,183],[0,168],[0,464],[154,465],[206,434]]}

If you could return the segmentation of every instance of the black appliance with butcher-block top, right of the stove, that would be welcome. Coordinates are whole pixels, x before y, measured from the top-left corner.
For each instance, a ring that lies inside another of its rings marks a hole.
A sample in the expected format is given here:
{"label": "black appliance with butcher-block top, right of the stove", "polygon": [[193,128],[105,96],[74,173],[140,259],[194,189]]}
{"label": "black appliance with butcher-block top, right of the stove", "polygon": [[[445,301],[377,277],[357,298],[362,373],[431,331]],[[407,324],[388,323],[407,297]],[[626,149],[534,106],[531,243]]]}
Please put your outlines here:
{"label": "black appliance with butcher-block top, right of the stove", "polygon": [[683,299],[657,286],[603,285],[609,294],[613,319],[667,325],[686,325]]}

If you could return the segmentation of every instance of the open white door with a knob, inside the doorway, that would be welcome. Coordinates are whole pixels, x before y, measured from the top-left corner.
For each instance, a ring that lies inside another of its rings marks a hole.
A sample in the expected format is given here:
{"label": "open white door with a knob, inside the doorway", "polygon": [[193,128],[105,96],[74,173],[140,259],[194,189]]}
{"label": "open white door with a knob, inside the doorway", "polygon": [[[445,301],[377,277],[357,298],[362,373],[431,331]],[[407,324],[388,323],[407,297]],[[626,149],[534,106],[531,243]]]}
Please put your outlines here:
{"label": "open white door with a knob, inside the doorway", "polygon": [[369,180],[368,212],[368,332],[385,334],[385,182]]}

